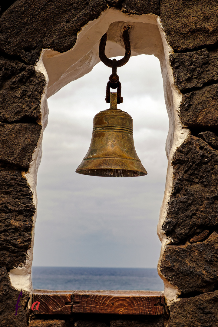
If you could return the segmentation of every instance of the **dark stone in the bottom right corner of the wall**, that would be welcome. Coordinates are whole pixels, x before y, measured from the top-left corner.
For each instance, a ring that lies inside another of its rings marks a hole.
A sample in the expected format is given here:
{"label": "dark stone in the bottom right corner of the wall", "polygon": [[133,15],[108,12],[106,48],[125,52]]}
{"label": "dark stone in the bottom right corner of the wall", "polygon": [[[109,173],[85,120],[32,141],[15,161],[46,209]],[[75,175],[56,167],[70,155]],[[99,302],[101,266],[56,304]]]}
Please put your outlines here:
{"label": "dark stone in the bottom right corner of the wall", "polygon": [[173,301],[167,327],[218,327],[218,291]]}

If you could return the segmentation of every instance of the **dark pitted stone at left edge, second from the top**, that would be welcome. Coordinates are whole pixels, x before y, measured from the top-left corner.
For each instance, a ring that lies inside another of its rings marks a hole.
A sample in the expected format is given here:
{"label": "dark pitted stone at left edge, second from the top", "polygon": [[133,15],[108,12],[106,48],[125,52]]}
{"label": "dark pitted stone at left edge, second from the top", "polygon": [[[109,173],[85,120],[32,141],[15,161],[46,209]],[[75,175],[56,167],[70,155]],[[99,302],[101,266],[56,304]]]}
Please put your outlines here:
{"label": "dark pitted stone at left edge, second from the top", "polygon": [[45,77],[34,66],[0,57],[0,122],[39,119],[44,87]]}

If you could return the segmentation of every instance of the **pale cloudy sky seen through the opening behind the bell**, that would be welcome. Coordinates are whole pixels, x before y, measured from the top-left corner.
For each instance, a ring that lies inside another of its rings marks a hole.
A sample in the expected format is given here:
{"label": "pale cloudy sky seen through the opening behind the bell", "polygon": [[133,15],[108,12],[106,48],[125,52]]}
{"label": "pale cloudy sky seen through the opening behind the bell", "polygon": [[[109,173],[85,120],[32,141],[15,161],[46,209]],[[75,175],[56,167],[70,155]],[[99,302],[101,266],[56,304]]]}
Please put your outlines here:
{"label": "pale cloudy sky seen through the opening behind the bell", "polygon": [[109,109],[105,93],[111,68],[100,62],[48,99],[33,266],[157,267],[169,128],[159,60],[131,57],[117,73],[124,98],[118,109],[133,118],[136,152],[148,175],[75,173],[90,146],[94,115]]}

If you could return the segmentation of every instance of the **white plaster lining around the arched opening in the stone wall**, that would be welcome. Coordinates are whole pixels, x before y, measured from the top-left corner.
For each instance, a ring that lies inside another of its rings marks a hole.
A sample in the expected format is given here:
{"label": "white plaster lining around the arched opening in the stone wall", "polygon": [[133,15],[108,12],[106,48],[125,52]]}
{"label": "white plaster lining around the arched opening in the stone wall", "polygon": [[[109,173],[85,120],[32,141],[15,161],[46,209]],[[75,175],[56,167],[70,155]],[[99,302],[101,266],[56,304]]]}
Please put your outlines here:
{"label": "white plaster lining around the arched opening in the stone wall", "polygon": [[[182,95],[174,84],[172,69],[169,65],[169,55],[173,52],[166,41],[159,16],[154,14],[127,15],[118,9],[106,9],[99,18],[90,21],[77,34],[77,40],[72,49],[59,53],[51,49],[43,49],[40,60],[36,65],[36,71],[44,74],[46,87],[41,101],[41,124],[42,130],[47,125],[47,98],[58,92],[64,85],[89,73],[93,66],[100,61],[98,56],[98,45],[102,35],[108,32],[106,55],[108,57],[123,56],[125,53],[122,41],[123,27],[128,24],[131,55],[154,54],[159,58],[161,73],[164,84],[164,95],[167,112],[169,115],[169,133],[166,141],[166,154],[169,159],[166,187],[162,206],[160,209],[158,235],[162,243],[161,254],[166,244],[170,242],[162,232],[161,226],[167,212],[168,200],[172,191],[172,166],[171,158],[178,146],[186,139],[189,130],[183,129],[179,116],[179,103]],[[37,171],[42,156],[42,134],[38,145],[33,153],[32,162],[25,175],[28,184],[33,191],[33,200],[37,207],[36,183]],[[34,215],[34,225],[36,214]],[[12,285],[17,289],[31,292],[31,265],[33,258],[34,230],[32,232],[32,243],[28,250],[28,260],[22,267],[12,269],[9,272]],[[164,280],[164,278],[163,278]],[[164,280],[165,296],[167,301],[176,299],[179,290]]]}

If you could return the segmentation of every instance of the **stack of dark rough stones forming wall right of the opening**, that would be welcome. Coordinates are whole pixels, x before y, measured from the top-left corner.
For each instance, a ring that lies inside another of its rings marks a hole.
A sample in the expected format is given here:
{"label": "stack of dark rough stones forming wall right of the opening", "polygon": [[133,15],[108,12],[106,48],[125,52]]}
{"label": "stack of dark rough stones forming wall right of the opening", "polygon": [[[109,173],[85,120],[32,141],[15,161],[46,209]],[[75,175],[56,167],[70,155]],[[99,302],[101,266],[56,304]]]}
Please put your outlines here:
{"label": "stack of dark rough stones forming wall right of the opening", "polygon": [[[161,230],[161,275],[178,288],[167,326],[218,326],[217,302],[217,8],[215,1],[161,1],[182,94],[179,118],[190,130],[172,156],[172,192]],[[172,299],[170,299],[172,300]]]}

